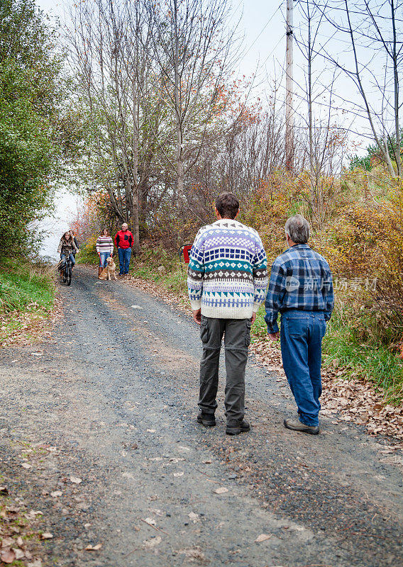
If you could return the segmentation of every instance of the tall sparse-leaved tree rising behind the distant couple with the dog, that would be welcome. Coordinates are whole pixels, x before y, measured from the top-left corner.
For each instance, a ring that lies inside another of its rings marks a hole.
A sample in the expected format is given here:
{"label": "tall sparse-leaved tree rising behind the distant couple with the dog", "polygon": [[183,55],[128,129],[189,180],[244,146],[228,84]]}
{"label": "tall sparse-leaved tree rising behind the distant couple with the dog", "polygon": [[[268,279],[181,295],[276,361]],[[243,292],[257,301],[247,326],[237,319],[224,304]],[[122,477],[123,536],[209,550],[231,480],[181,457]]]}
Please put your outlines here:
{"label": "tall sparse-leaved tree rising behind the distant couple with the dog", "polygon": [[[87,162],[93,186],[104,187],[116,217],[133,226],[140,248],[140,218],[157,181],[150,168],[160,104],[150,79],[150,28],[136,0],[84,0],[75,5],[70,30],[72,67],[89,113]],[[151,180],[153,178],[153,180]]]}

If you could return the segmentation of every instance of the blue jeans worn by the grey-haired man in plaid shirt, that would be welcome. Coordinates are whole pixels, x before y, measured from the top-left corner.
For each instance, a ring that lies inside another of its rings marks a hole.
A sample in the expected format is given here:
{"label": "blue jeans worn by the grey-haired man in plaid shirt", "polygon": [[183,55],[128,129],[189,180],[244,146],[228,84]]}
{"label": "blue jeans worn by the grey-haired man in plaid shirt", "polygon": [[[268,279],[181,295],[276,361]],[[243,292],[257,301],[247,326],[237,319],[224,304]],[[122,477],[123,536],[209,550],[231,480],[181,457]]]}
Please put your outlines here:
{"label": "blue jeans worn by the grey-haired man in plaid shirt", "polygon": [[319,425],[322,393],[322,339],[326,321],[322,311],[289,310],[281,316],[282,365],[298,406],[299,420]]}

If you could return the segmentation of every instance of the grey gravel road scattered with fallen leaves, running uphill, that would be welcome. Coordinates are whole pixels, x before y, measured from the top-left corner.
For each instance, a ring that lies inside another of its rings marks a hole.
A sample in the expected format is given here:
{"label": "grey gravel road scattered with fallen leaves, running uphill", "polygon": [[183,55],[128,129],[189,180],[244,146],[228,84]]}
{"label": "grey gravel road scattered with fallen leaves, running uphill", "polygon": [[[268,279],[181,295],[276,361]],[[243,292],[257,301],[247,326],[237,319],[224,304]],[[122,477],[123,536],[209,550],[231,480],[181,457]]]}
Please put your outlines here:
{"label": "grey gravel road scattered with fallen leaves, running uphill", "polygon": [[43,512],[46,564],[403,566],[402,458],[385,440],[326,418],[317,437],[285,430],[287,385],[253,361],[251,432],[225,435],[222,387],[217,426],[197,425],[192,320],[73,275],[50,336],[0,359],[2,472]]}

